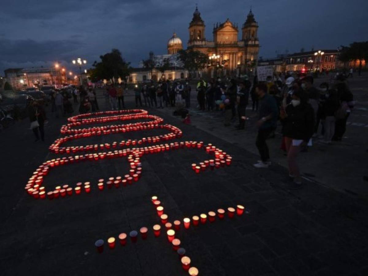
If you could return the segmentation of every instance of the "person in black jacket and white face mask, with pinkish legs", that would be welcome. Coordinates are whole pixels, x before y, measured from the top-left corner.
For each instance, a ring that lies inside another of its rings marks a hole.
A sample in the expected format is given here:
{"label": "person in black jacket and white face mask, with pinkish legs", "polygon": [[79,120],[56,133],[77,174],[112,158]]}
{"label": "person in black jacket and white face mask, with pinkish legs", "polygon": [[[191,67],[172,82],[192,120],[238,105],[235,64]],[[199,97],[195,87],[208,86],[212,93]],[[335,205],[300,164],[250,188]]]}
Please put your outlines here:
{"label": "person in black jacket and white face mask, with pinkish legs", "polygon": [[314,131],[314,110],[307,102],[307,96],[301,89],[295,89],[292,100],[280,114],[283,120],[283,135],[285,136],[289,176],[294,178],[292,188],[301,187],[301,176],[297,164],[297,156],[303,146],[311,145]]}

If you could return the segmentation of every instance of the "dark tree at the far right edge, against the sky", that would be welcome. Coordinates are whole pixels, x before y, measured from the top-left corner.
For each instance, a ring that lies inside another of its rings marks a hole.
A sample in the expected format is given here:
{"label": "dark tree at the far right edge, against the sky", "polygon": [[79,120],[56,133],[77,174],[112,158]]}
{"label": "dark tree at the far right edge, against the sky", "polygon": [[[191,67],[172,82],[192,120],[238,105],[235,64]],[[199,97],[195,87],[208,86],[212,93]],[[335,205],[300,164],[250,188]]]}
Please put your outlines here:
{"label": "dark tree at the far right edge, against the sky", "polygon": [[358,74],[361,74],[362,62],[367,61],[368,58],[368,41],[353,42],[349,47],[342,46],[339,60],[342,62],[350,62],[352,60],[359,60]]}

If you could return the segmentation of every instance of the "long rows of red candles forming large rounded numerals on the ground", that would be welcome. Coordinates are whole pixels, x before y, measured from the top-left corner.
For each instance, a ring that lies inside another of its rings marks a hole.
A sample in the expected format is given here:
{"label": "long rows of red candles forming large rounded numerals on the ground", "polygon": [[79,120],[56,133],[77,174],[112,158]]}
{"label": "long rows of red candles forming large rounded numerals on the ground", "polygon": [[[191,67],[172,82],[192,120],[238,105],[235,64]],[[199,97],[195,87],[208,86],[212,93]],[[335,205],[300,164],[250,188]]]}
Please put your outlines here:
{"label": "long rows of red candles forming large rounded numerals on the ground", "polygon": [[[93,117],[100,116],[100,117]],[[96,123],[112,123],[114,121],[126,121],[136,119],[148,119],[149,121],[130,123],[130,124],[112,124],[102,127],[88,127],[88,128],[76,128],[83,127],[84,125],[96,124]],[[142,139],[128,139],[123,141],[112,142],[111,144],[105,143],[100,145],[85,145],[85,146],[61,146],[67,141],[76,139],[97,136],[97,135],[109,135],[116,133],[164,129],[169,130],[168,134],[145,137]],[[111,189],[112,187],[120,188],[127,185],[132,185],[137,182],[142,174],[141,157],[148,154],[156,154],[164,151],[173,151],[178,149],[204,149],[206,153],[212,155],[212,159],[204,160],[198,164],[192,163],[191,167],[195,173],[202,173],[206,170],[213,170],[214,168],[220,168],[223,166],[230,166],[232,158],[226,152],[216,148],[212,144],[204,145],[204,142],[197,141],[185,141],[165,143],[171,139],[181,138],[183,132],[170,124],[163,124],[163,119],[158,116],[149,115],[146,110],[133,109],[133,110],[116,110],[107,112],[87,113],[80,114],[74,117],[68,118],[68,124],[61,127],[60,132],[67,136],[57,139],[49,147],[50,152],[56,154],[77,154],[79,152],[85,152],[84,155],[74,155],[62,158],[56,158],[48,160],[40,165],[32,176],[29,178],[25,185],[25,191],[35,199],[50,200],[56,198],[68,198],[71,195],[89,194],[93,190],[104,191],[105,187]],[[158,144],[163,143],[163,144]],[[149,145],[146,145],[149,144]],[[156,145],[153,145],[156,144]],[[146,145],[146,146],[144,146]],[[134,146],[133,148],[117,149]],[[106,150],[106,151],[104,151]],[[110,150],[110,151],[109,151]],[[104,152],[102,152],[104,151]],[[72,188],[70,184],[64,184],[63,189],[61,186],[57,186],[54,190],[46,191],[45,178],[51,170],[56,167],[64,166],[68,164],[81,163],[81,162],[95,162],[104,159],[113,158],[125,158],[130,164],[129,173],[125,176],[110,177],[108,180],[100,179],[97,184],[85,182],[84,185],[76,185]],[[237,209],[237,213],[240,212]],[[162,213],[163,214],[163,213]],[[206,218],[201,217],[201,222],[205,223]],[[197,220],[193,221],[197,225]]]}

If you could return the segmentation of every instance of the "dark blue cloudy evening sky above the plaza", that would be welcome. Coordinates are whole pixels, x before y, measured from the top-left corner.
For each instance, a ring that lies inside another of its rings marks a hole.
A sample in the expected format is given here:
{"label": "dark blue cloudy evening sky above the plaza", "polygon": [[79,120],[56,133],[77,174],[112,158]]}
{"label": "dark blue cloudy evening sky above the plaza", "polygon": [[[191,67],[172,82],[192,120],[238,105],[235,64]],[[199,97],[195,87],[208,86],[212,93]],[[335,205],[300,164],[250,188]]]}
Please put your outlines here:
{"label": "dark blue cloudy evening sky above the plaza", "polygon": [[208,40],[214,23],[240,27],[252,6],[263,58],[368,40],[367,0],[12,0],[0,8],[0,75],[56,61],[72,68],[79,56],[91,66],[112,48],[137,66],[150,50],[166,54],[174,30],[186,49],[195,3]]}

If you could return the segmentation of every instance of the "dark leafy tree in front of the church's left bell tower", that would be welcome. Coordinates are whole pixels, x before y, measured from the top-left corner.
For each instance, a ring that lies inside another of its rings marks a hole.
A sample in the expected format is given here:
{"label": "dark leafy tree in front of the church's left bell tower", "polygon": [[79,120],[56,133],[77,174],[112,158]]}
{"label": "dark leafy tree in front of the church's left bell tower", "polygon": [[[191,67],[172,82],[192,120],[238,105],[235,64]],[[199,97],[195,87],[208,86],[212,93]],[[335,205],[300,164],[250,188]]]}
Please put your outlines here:
{"label": "dark leafy tree in front of the church's left bell tower", "polygon": [[208,63],[208,56],[199,51],[180,50],[178,51],[177,60],[191,73],[205,68]]}

